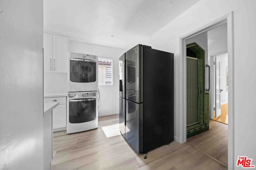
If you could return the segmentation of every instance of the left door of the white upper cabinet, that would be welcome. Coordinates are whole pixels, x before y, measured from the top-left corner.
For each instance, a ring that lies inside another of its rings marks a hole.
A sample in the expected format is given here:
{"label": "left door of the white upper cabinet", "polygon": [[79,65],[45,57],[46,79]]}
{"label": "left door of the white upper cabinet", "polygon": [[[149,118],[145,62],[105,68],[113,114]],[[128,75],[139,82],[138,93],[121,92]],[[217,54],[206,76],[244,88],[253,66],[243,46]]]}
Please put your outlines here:
{"label": "left door of the white upper cabinet", "polygon": [[44,33],[44,72],[52,72],[52,34]]}

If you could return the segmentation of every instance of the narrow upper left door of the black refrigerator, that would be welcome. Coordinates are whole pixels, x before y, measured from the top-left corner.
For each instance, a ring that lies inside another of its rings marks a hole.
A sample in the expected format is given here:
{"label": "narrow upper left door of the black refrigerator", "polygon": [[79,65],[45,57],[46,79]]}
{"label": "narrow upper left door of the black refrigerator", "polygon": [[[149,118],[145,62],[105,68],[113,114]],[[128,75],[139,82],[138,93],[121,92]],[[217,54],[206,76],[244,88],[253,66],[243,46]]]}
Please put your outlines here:
{"label": "narrow upper left door of the black refrigerator", "polygon": [[125,53],[119,58],[119,96],[125,98],[126,91],[126,68]]}

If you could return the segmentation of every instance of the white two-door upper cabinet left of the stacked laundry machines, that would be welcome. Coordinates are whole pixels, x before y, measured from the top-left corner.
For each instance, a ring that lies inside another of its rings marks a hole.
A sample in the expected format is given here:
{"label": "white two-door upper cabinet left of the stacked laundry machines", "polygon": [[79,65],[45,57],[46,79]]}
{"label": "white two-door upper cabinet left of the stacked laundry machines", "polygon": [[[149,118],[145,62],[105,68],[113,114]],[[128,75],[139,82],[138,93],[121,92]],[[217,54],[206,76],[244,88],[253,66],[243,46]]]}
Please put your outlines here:
{"label": "white two-door upper cabinet left of the stacked laundry machines", "polygon": [[44,33],[44,72],[68,72],[68,37]]}

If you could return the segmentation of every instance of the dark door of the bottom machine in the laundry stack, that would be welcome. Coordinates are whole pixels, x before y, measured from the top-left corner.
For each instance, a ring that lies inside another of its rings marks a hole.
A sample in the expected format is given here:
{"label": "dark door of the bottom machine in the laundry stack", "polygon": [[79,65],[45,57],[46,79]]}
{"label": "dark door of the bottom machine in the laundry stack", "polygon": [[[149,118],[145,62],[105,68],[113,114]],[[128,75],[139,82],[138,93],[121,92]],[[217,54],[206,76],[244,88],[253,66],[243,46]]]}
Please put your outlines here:
{"label": "dark door of the bottom machine in the laundry stack", "polygon": [[69,122],[84,123],[96,119],[96,99],[69,101]]}

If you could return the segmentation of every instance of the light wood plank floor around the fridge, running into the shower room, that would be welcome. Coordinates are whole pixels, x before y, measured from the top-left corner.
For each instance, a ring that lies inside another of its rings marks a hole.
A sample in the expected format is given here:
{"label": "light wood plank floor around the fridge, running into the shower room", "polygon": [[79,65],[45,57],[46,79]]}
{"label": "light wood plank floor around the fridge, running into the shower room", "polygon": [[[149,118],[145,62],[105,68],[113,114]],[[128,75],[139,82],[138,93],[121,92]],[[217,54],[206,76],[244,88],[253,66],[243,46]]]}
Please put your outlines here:
{"label": "light wood plank floor around the fridge, running into the shower room", "polygon": [[[210,130],[179,144],[176,141],[136,154],[122,135],[106,137],[102,127],[118,115],[99,117],[98,129],[54,133],[52,170],[222,170],[227,169],[227,125],[210,121]],[[107,128],[103,128],[107,129]],[[113,131],[113,127],[110,128]],[[118,131],[118,128],[116,129]],[[111,133],[113,134],[113,133]]]}

